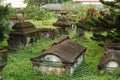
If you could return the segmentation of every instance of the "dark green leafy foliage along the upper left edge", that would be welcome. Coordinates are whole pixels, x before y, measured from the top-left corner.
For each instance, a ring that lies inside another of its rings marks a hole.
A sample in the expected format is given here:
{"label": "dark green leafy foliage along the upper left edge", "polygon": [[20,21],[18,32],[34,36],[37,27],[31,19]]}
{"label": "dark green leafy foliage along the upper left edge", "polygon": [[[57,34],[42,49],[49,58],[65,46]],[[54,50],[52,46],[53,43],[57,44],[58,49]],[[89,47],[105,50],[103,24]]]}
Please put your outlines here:
{"label": "dark green leafy foliage along the upper left edge", "polygon": [[7,6],[0,6],[0,43],[9,37],[10,33],[10,26],[9,26],[9,15],[11,13],[11,9],[9,5]]}

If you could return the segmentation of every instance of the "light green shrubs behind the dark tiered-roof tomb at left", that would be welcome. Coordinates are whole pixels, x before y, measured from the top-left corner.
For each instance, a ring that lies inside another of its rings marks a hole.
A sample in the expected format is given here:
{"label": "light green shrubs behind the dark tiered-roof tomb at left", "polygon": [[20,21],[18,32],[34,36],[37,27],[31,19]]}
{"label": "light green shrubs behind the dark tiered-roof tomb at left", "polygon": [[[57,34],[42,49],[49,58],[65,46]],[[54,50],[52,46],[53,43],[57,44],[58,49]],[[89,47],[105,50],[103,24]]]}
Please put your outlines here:
{"label": "light green shrubs behind the dark tiered-roof tomb at left", "polygon": [[39,6],[28,6],[25,9],[25,13],[29,19],[42,20],[43,24],[46,24],[49,19],[56,17],[53,12]]}

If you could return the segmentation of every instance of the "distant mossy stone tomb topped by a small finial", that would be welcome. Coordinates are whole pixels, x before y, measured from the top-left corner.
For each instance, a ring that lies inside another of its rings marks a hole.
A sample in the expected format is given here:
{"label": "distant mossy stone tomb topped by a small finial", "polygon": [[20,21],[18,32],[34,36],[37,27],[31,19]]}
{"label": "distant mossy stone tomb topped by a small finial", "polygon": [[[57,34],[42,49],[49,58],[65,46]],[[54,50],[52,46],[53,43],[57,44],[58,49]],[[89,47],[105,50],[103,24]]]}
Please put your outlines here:
{"label": "distant mossy stone tomb topped by a small finial", "polygon": [[73,21],[66,16],[66,12],[62,12],[58,20],[53,23],[53,26],[60,28],[60,34],[68,34],[72,29],[75,28]]}

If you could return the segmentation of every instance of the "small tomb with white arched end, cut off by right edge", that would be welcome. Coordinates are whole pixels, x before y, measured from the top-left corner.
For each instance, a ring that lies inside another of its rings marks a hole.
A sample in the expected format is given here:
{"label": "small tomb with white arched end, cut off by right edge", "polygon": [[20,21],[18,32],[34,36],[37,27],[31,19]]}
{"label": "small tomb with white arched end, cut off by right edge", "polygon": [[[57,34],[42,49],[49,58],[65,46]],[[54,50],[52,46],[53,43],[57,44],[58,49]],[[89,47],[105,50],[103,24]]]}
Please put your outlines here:
{"label": "small tomb with white arched end, cut off by right edge", "polygon": [[112,72],[120,66],[120,52],[118,50],[108,50],[101,58],[98,69],[100,72]]}

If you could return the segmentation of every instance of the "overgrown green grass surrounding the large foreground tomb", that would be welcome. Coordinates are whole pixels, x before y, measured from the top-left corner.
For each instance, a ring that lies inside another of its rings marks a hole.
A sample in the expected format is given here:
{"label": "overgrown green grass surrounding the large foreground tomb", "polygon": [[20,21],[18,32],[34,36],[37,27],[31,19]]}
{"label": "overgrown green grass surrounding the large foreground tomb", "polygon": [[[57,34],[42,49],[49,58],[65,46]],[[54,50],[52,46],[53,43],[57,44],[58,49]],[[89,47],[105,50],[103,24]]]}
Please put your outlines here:
{"label": "overgrown green grass surrounding the large foreground tomb", "polygon": [[[73,32],[74,33],[74,32]],[[74,35],[71,33],[72,37]],[[9,50],[7,65],[3,70],[4,80],[120,80],[119,73],[99,74],[97,64],[103,55],[103,49],[96,42],[89,39],[91,33],[86,33],[87,42],[74,38],[76,42],[87,47],[85,59],[75,70],[72,76],[45,75],[35,72],[30,58],[37,56],[56,40],[41,39],[37,43],[22,50]]]}

